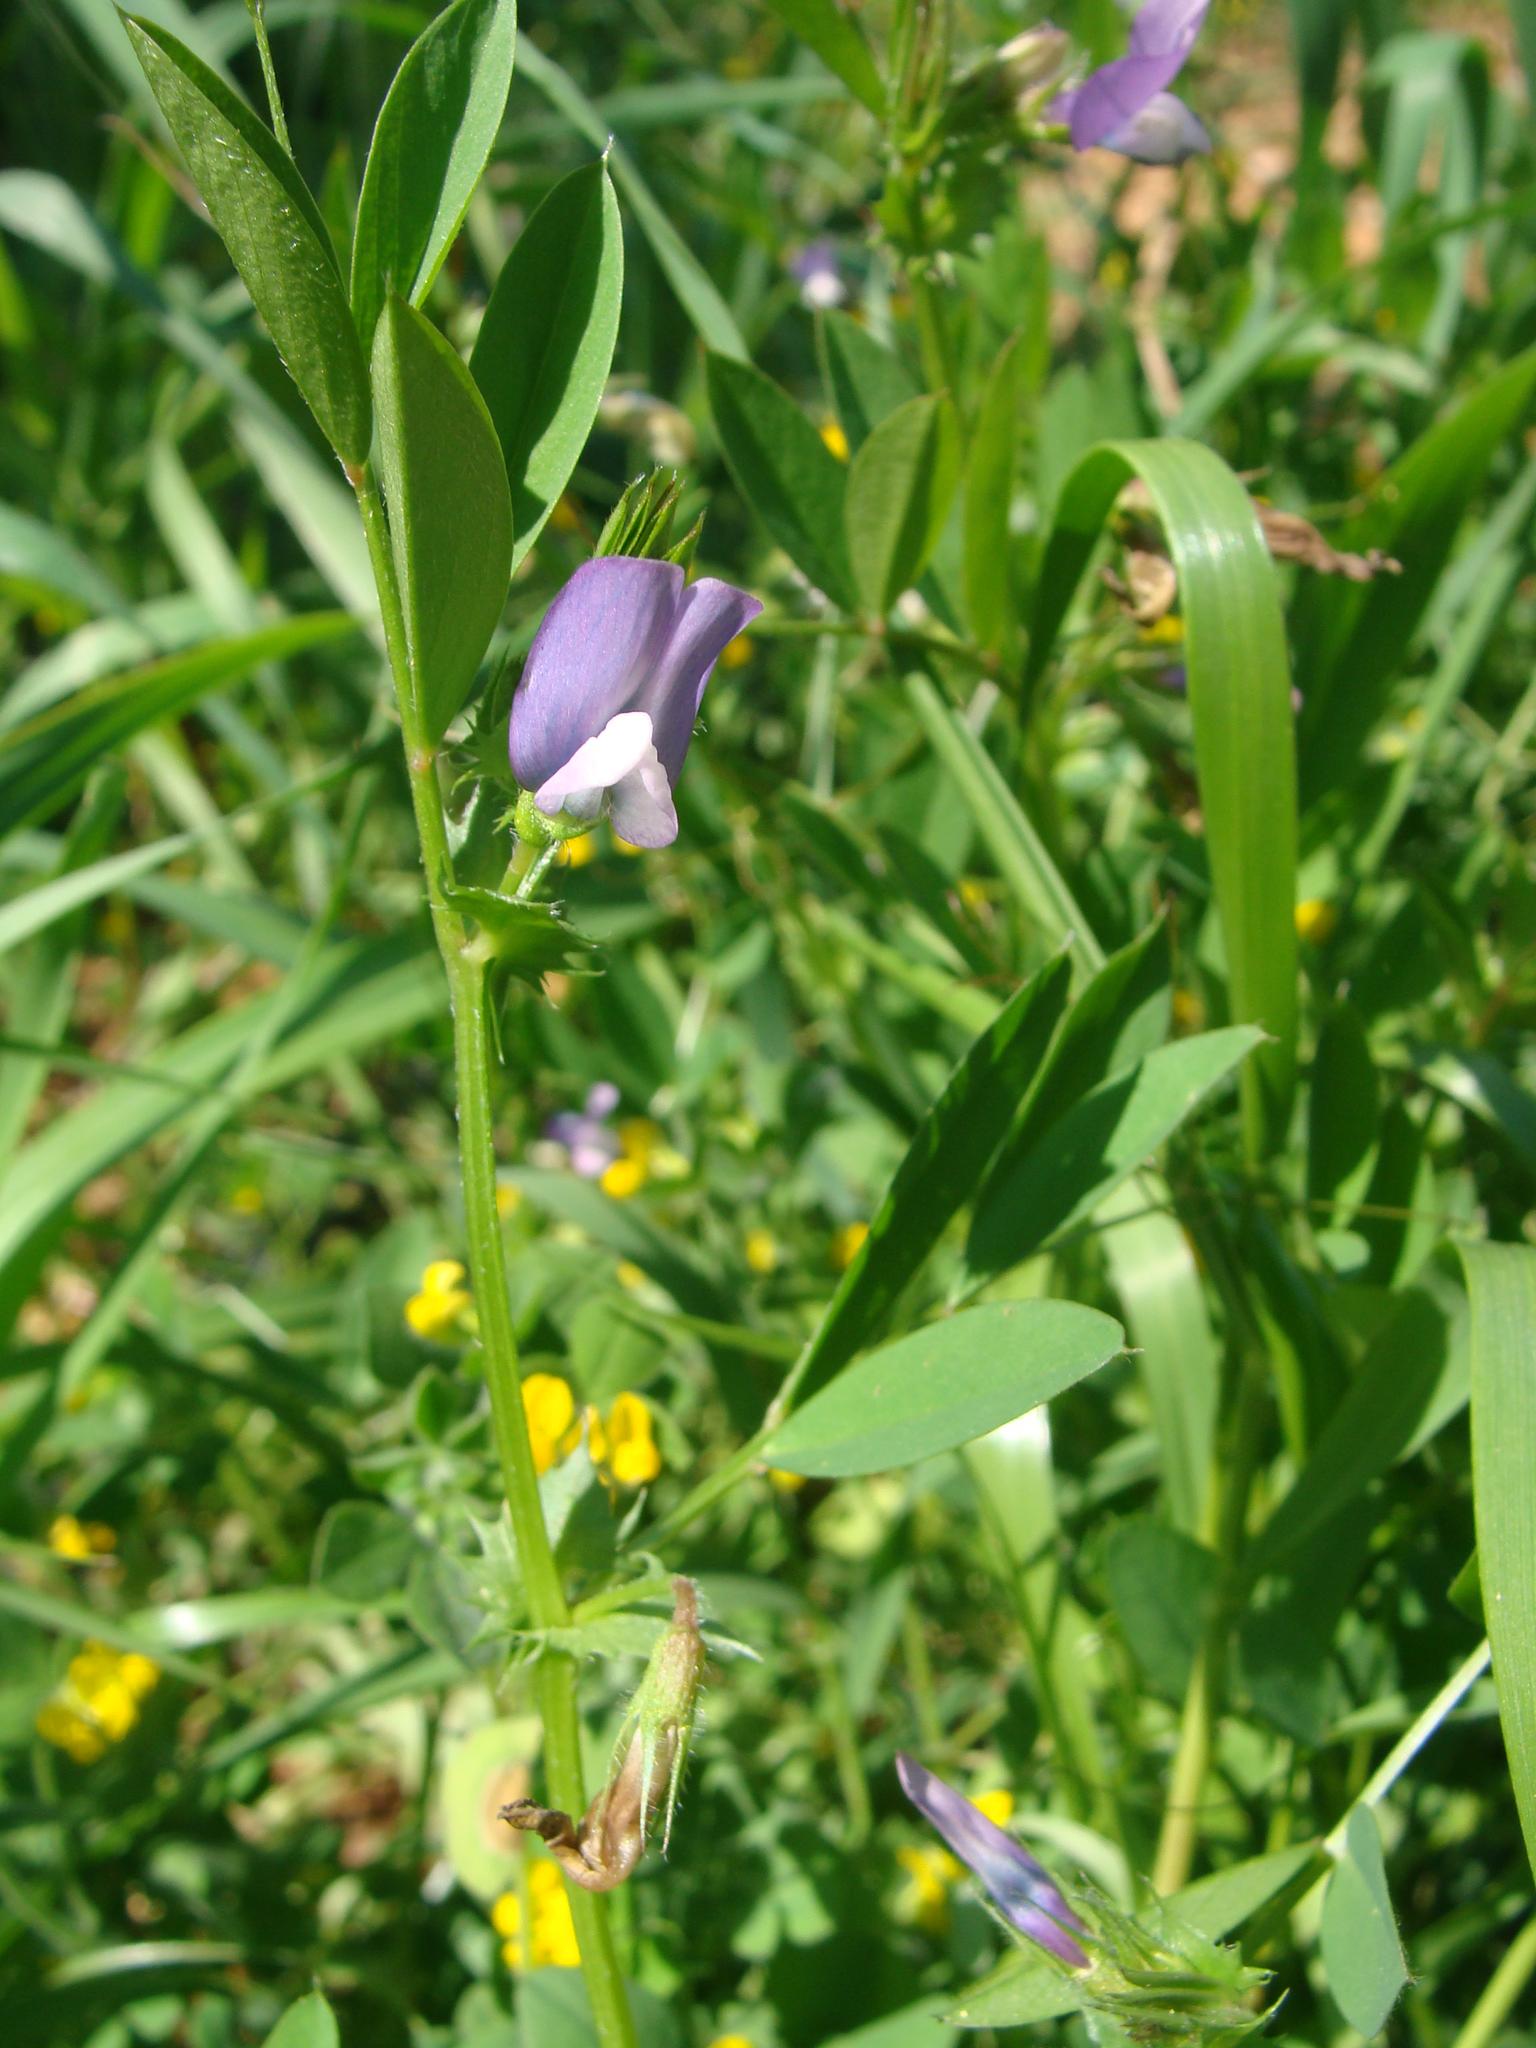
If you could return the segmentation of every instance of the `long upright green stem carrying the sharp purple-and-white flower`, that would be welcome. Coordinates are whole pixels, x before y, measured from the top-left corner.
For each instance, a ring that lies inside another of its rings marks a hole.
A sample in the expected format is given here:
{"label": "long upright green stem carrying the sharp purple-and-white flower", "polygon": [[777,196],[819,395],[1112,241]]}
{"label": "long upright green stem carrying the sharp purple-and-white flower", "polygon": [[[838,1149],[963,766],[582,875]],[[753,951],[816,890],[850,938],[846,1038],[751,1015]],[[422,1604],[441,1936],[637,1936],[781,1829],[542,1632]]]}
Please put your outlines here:
{"label": "long upright green stem carrying the sharp purple-and-white flower", "polygon": [[[492,1430],[502,1466],[506,1505],[512,1516],[512,1538],[518,1550],[522,1583],[528,1593],[528,1616],[535,1628],[563,1628],[569,1606],[559,1577],[559,1565],[549,1544],[545,1513],[539,1501],[539,1468],[522,1407],[518,1374],[518,1337],[512,1325],[512,1298],[506,1276],[502,1219],[496,1210],[496,1049],[492,1042],[492,1012],[485,983],[485,963],[477,956],[465,920],[451,905],[446,891],[453,881],[449,854],[449,821],[442,809],[436,750],[420,713],[420,692],[410,659],[406,614],[399,602],[395,557],[379,485],[371,467],[356,485],[362,530],[369,543],[373,578],[379,586],[385,647],[399,700],[399,725],[406,743],[416,831],[426,868],[426,899],[432,930],[449,977],[453,1006],[453,1063],[459,1102],[459,1174],[465,1198],[465,1260],[475,1290],[479,1346],[485,1368],[485,1391],[492,1403]],[[580,1815],[586,1808],[582,1769],[582,1722],[575,1706],[575,1659],[563,1651],[545,1651],[539,1659],[539,1706],[545,1729],[545,1778],[551,1804]],[[606,1901],[569,1884],[571,1919],[582,1950],[582,1972],[592,2003],[592,2021],[602,2048],[635,2048],[635,2021],[618,1968]]]}

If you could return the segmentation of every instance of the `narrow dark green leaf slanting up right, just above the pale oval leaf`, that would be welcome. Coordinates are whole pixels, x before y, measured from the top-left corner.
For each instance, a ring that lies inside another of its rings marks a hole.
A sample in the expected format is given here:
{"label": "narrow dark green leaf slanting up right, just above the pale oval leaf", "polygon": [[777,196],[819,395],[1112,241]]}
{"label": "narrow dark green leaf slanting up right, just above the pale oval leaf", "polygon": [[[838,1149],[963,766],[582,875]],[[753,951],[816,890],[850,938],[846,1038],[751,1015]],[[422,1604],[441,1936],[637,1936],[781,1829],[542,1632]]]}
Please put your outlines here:
{"label": "narrow dark green leaf slanting up right, just above the pale oval leaf", "polygon": [[1018,989],[971,1044],[924,1116],[827,1313],[778,1397],[784,1415],[827,1384],[883,1327],[956,1208],[969,1200],[1014,1104],[1044,1059],[1067,1001],[1057,956]]}

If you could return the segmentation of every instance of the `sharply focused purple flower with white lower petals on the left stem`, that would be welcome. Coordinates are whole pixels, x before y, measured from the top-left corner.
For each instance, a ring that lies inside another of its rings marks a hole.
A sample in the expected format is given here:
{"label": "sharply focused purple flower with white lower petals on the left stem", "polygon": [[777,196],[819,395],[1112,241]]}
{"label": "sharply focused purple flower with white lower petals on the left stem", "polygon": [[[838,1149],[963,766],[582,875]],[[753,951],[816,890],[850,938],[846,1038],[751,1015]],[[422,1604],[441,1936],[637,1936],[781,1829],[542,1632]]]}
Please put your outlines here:
{"label": "sharply focused purple flower with white lower petals on the left stem", "polygon": [[762,604],[674,561],[604,555],[545,612],[512,698],[512,772],[545,813],[598,817],[633,846],[678,836],[672,791],[721,649]]}

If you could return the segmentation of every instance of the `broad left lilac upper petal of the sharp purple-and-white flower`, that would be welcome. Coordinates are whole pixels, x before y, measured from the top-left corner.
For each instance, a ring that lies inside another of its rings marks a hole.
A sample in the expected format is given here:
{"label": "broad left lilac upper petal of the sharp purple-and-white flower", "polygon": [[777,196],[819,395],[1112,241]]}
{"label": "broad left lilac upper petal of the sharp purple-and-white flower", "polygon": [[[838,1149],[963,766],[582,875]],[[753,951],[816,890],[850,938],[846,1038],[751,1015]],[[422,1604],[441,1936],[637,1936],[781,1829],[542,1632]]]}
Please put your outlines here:
{"label": "broad left lilac upper petal of the sharp purple-and-white flower", "polygon": [[512,772],[524,788],[549,782],[631,707],[666,651],[680,596],[672,561],[582,563],[545,612],[512,698]]}

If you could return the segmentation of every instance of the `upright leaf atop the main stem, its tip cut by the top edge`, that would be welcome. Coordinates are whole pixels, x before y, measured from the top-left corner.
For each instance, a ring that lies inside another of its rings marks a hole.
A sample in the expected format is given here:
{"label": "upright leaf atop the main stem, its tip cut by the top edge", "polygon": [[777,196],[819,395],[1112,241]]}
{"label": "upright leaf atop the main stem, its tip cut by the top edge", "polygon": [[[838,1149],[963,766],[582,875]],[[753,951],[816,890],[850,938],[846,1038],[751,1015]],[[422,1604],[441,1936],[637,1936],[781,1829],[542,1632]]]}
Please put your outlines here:
{"label": "upright leaf atop the main stem, its tip cut by the top edge", "polygon": [[365,350],[389,293],[420,305],[453,248],[506,113],[516,37],[516,0],[455,0],[395,72],[352,236],[352,313]]}

